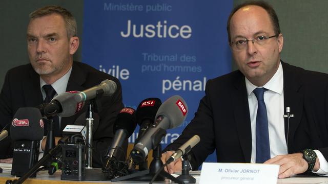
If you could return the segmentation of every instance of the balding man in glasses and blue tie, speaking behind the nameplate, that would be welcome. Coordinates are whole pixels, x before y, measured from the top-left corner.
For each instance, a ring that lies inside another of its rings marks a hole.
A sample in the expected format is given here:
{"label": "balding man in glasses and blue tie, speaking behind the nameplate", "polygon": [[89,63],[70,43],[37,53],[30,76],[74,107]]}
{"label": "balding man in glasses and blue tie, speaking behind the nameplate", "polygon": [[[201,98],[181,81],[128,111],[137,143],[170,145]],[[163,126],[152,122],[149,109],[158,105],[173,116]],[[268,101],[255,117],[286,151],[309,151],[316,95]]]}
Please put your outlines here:
{"label": "balding man in glasses and blue tie, speaking behind the nameplate", "polygon": [[[279,178],[327,174],[328,75],[280,60],[283,36],[267,3],[237,6],[227,30],[239,70],[207,82],[194,119],[164,150],[163,163],[198,134],[187,155],[194,170],[216,150],[217,162],[278,164]],[[294,116],[289,122],[286,107]],[[181,159],[166,168],[178,170]]]}

